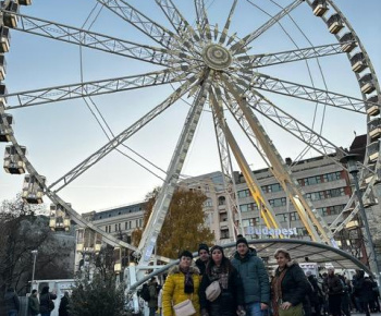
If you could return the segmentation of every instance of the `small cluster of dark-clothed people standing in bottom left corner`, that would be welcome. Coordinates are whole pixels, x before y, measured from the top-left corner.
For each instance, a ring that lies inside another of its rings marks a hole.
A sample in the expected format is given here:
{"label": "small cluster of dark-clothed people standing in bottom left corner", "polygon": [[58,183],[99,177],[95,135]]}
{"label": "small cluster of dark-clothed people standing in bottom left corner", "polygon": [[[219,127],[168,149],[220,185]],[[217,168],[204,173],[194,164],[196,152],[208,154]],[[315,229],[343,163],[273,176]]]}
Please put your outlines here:
{"label": "small cluster of dark-clothed people standing in bottom left corner", "polygon": [[[37,290],[33,290],[28,297],[28,316],[50,316],[54,309],[56,293],[49,292],[49,287],[44,287],[39,297]],[[20,312],[20,300],[13,288],[8,288],[4,295],[8,316],[17,316]],[[69,314],[69,292],[64,292],[59,306],[59,316],[70,316]]]}

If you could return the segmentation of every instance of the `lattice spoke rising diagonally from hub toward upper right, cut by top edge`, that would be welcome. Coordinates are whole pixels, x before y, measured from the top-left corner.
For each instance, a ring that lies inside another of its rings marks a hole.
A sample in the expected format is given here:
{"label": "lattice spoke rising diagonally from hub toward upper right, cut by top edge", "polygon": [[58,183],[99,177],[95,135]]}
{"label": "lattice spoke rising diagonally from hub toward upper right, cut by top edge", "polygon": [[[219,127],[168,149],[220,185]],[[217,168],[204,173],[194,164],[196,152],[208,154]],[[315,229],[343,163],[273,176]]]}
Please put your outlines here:
{"label": "lattice spoke rising diagonally from hub toward upper right, cut by top edge", "polygon": [[268,22],[262,24],[259,28],[251,32],[250,34],[246,35],[243,39],[232,45],[231,50],[233,53],[242,53],[245,52],[247,47],[253,40],[255,40],[257,37],[262,35],[266,31],[268,31],[272,25],[278,23],[282,17],[290,14],[295,8],[297,8],[300,3],[303,3],[304,0],[295,0],[290,5],[285,7],[283,10],[281,10],[278,14],[272,16]]}

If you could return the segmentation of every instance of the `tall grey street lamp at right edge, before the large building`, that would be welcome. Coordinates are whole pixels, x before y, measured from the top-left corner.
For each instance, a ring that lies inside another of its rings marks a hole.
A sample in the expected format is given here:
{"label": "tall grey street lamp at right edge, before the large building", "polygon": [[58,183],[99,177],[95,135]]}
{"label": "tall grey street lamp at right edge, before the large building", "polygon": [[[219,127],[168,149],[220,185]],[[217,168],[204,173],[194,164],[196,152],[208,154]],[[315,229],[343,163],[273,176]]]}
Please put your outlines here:
{"label": "tall grey street lamp at right edge, before the large building", "polygon": [[370,234],[370,230],[369,230],[369,223],[368,223],[368,218],[367,218],[367,214],[366,214],[365,208],[364,208],[362,195],[361,195],[361,192],[360,192],[360,186],[358,184],[358,177],[357,177],[358,168],[357,168],[357,165],[356,165],[356,162],[358,160],[358,157],[359,157],[359,155],[348,154],[348,155],[344,156],[342,159],[340,159],[340,162],[342,162],[343,165],[346,165],[348,172],[352,174],[352,177],[354,179],[355,187],[356,187],[356,195],[357,195],[358,205],[359,205],[359,209],[360,209],[360,216],[361,216],[361,220],[364,222],[365,231],[366,231],[366,234],[367,234],[370,256],[373,257],[373,260],[374,260],[374,272],[377,274],[377,278],[379,280],[379,287],[381,287],[381,275],[380,275],[380,271],[379,271],[379,264],[378,264],[378,259],[377,259],[374,244],[373,244],[373,241],[371,239],[371,234]]}

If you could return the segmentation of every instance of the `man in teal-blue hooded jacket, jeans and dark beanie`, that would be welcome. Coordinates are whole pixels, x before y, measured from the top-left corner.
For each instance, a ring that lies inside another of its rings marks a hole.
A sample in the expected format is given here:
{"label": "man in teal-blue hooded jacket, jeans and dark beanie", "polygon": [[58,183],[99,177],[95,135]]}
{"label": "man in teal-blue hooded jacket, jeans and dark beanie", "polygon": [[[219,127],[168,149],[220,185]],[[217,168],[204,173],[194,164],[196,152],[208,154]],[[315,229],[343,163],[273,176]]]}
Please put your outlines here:
{"label": "man in teal-blue hooded jacket, jeans and dark beanie", "polygon": [[247,316],[261,316],[270,302],[269,275],[255,248],[249,248],[242,235],[237,236],[236,253],[232,265],[238,271],[244,287],[244,303]]}

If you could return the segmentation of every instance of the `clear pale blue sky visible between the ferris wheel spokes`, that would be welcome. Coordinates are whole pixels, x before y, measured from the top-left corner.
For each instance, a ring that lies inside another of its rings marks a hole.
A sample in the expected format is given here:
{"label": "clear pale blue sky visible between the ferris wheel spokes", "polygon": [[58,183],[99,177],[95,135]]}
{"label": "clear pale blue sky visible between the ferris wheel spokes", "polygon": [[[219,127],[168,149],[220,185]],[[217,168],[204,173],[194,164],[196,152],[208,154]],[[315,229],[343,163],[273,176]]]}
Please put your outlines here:
{"label": "clear pale blue sky visible between the ferris wheel spokes", "polygon": [[[219,28],[222,28],[232,2],[231,0],[206,1],[212,25],[218,23]],[[274,14],[279,8],[273,2],[270,0],[239,0],[232,20],[230,35],[237,32],[238,37],[244,37],[259,27],[268,20],[268,16],[253,4]],[[278,2],[286,5],[292,1]],[[95,0],[34,0],[32,5],[22,7],[21,13],[85,29],[90,27],[93,32],[120,39],[158,46],[108,9],[96,7],[96,3]],[[153,21],[171,27],[155,1],[135,0],[130,3]],[[193,1],[177,0],[174,3],[194,25]],[[370,56],[376,72],[380,74],[381,23],[379,12],[381,12],[381,1],[336,0],[335,3],[356,31]],[[314,46],[336,42],[321,19],[314,16],[307,3],[302,3],[291,16],[297,26],[290,16],[282,19],[282,26],[287,34],[279,25],[274,25],[253,42],[250,51],[253,53],[276,52],[295,49],[295,44],[298,47],[309,47],[309,42],[312,42]],[[295,44],[292,42],[288,35]],[[159,70],[158,66],[149,63],[94,49],[81,49],[76,45],[17,31],[12,32],[11,49],[5,54],[5,59],[4,83],[9,93]],[[281,64],[259,71],[299,84],[311,85],[314,83],[319,88],[324,88],[323,83],[325,82],[331,92],[360,97],[356,77],[344,54],[322,58],[319,64],[312,60],[308,62],[308,66],[310,74],[305,62]],[[160,104],[173,92],[174,87],[157,86],[97,96],[93,98],[90,105],[93,110],[96,106],[112,132],[118,134]],[[311,126],[315,121],[315,129],[321,131],[323,136],[337,146],[348,147],[355,133],[359,135],[366,132],[364,116],[322,106],[319,106],[316,111],[315,104],[271,93],[263,94],[308,126]],[[14,105],[14,98],[9,98],[8,105]],[[78,212],[101,210],[143,200],[149,191],[162,183],[160,178],[164,178],[164,173],[160,169],[167,170],[169,166],[188,109],[187,102],[179,101],[125,143],[126,146],[156,166],[152,167],[137,158],[156,175],[124,155],[112,151],[65,186],[59,195],[65,202],[71,203]],[[314,117],[315,112],[316,117]],[[48,184],[53,183],[108,142],[83,99],[15,109],[10,113],[14,117],[13,127],[19,144],[27,147],[29,161],[39,174],[47,178]],[[259,120],[283,158],[296,159],[299,156],[305,148],[303,144],[287,132],[273,126],[266,118],[259,117]],[[232,120],[229,122],[250,167],[253,169],[263,168],[263,162],[234,122]],[[3,151],[4,147],[5,144],[0,143],[0,151]],[[127,148],[121,147],[121,150],[136,158]],[[310,150],[303,158],[316,155]],[[234,167],[236,168],[235,162]],[[182,173],[186,177],[199,175],[219,169],[211,114],[206,108]],[[22,184],[23,175],[1,172],[0,200],[14,198],[21,192]],[[45,203],[49,204],[48,198],[45,198]]]}

